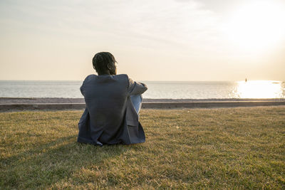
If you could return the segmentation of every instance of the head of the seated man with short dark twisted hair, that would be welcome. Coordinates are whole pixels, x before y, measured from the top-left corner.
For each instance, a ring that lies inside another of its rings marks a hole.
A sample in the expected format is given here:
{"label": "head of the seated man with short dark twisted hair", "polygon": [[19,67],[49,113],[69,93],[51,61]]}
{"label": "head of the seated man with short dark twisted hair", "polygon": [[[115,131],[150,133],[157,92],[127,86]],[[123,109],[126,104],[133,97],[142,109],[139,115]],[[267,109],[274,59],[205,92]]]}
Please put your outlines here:
{"label": "head of the seated man with short dark twisted hair", "polygon": [[115,57],[109,52],[96,53],[93,60],[93,68],[98,75],[116,75],[117,68]]}

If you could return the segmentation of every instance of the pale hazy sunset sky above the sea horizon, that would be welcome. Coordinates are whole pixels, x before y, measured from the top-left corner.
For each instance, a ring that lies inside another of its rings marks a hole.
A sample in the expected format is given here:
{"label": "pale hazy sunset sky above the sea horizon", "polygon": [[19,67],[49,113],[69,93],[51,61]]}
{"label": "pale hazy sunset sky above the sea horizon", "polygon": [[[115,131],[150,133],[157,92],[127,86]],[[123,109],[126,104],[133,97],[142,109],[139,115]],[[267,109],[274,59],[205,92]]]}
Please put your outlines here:
{"label": "pale hazy sunset sky above the sea horizon", "polygon": [[0,80],[285,81],[285,1],[0,1]]}

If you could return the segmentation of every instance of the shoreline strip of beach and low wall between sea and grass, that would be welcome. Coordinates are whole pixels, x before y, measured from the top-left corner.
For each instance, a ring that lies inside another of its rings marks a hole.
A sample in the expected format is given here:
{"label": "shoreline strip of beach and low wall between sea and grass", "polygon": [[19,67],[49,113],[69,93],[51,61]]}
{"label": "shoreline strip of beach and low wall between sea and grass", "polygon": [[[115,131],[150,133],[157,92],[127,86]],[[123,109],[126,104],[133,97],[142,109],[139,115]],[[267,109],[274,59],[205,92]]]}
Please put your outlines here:
{"label": "shoreline strip of beach and low wall between sea and grass", "polygon": [[[284,99],[145,99],[144,109],[219,108],[284,106]],[[7,98],[0,97],[0,111],[13,110],[82,110],[83,98]]]}

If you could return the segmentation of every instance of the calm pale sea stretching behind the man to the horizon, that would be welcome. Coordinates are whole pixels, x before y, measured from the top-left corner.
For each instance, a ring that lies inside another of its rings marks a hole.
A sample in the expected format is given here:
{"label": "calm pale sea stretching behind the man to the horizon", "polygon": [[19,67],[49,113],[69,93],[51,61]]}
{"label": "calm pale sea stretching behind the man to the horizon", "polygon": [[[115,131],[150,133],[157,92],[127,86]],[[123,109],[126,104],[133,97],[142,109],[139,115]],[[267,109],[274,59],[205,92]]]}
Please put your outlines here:
{"label": "calm pale sea stretching behind the man to the horizon", "polygon": [[[155,82],[145,98],[285,98],[285,83],[271,80],[237,82]],[[82,81],[0,80],[0,97],[83,97]]]}

